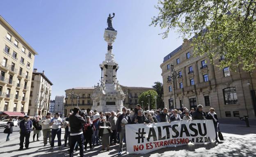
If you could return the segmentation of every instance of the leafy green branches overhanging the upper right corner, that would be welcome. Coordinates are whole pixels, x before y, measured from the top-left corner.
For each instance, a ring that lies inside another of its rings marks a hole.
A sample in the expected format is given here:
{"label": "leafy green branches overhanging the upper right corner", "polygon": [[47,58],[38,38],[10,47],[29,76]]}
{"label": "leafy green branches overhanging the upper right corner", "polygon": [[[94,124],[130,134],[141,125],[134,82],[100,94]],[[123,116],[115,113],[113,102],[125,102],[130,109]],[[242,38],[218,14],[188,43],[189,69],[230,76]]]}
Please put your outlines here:
{"label": "leafy green branches overhanging the upper right corner", "polygon": [[155,8],[159,14],[151,25],[165,29],[162,38],[177,28],[182,38],[195,35],[194,55],[206,54],[212,63],[225,58],[220,68],[255,69],[255,0],[160,0]]}

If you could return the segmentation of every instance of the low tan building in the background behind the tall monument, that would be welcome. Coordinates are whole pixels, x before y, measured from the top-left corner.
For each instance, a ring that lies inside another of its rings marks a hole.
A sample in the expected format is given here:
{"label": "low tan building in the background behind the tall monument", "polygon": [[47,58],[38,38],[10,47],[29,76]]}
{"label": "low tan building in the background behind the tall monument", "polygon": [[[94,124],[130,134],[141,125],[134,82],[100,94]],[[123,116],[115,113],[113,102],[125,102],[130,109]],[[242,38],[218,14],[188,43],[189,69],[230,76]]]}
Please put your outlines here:
{"label": "low tan building in the background behind the tall monument", "polygon": [[[126,94],[126,98],[123,101],[123,104],[126,108],[134,108],[139,102],[139,95],[145,91],[155,90],[155,88],[146,88],[146,87],[128,87],[121,86],[123,92]],[[72,89],[65,90],[66,98],[65,98],[65,110],[64,115],[66,115],[67,111],[71,112],[72,108]],[[73,97],[73,108],[75,106],[79,106],[82,110],[91,110],[93,105],[93,100],[91,95],[94,93],[94,87],[78,87],[74,88],[74,97]],[[78,99],[77,96],[79,95]],[[144,108],[146,105],[144,106]]]}

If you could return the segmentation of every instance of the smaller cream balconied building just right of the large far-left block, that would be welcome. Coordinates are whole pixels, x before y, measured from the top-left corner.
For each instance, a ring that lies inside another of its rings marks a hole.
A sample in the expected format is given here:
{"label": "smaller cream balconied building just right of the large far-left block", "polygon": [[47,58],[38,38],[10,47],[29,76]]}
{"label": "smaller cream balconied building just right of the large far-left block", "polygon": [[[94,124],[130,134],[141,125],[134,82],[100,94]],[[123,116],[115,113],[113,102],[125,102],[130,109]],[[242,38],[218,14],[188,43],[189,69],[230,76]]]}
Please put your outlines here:
{"label": "smaller cream balconied building just right of the large far-left block", "polygon": [[30,116],[46,116],[50,110],[50,96],[53,83],[46,77],[44,71],[34,69],[31,82],[28,113]]}

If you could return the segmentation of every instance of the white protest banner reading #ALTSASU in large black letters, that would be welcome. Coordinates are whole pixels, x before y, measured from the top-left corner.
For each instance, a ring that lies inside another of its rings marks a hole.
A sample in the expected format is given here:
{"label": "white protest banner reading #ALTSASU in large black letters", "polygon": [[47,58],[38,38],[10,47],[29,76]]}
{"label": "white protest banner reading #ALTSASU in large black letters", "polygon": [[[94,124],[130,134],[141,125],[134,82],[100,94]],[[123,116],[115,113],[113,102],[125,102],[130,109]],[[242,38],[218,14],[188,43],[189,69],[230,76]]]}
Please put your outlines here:
{"label": "white protest banner reading #ALTSASU in large black letters", "polygon": [[165,147],[211,142],[215,142],[215,129],[212,120],[126,125],[128,154],[146,154]]}

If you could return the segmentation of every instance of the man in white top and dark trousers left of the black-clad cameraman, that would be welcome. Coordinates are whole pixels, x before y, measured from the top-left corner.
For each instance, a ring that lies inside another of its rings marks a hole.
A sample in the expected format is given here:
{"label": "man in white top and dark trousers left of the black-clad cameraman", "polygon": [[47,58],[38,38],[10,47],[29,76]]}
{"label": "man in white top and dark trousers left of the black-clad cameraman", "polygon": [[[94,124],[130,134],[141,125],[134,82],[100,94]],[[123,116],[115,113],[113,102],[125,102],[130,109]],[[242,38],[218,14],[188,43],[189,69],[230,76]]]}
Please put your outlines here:
{"label": "man in white top and dark trousers left of the black-clad cameraman", "polygon": [[59,117],[59,113],[55,113],[54,118],[51,119],[50,126],[52,126],[52,141],[50,145],[50,150],[54,147],[54,139],[57,135],[58,138],[58,146],[62,148],[61,144],[61,126],[63,125],[62,119]]}

